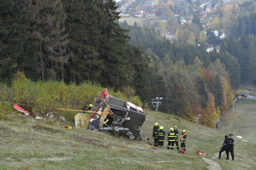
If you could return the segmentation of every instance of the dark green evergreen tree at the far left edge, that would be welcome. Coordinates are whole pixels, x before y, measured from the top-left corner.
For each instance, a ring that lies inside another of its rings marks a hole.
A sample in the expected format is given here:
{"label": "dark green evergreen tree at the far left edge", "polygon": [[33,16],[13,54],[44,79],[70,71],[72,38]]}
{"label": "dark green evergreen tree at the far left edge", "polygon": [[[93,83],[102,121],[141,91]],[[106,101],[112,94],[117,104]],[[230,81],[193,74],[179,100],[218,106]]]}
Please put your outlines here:
{"label": "dark green evergreen tree at the far left edge", "polygon": [[34,61],[26,57],[27,37],[22,35],[22,23],[26,16],[19,0],[0,2],[0,81],[10,83],[12,74],[18,70],[28,70]]}

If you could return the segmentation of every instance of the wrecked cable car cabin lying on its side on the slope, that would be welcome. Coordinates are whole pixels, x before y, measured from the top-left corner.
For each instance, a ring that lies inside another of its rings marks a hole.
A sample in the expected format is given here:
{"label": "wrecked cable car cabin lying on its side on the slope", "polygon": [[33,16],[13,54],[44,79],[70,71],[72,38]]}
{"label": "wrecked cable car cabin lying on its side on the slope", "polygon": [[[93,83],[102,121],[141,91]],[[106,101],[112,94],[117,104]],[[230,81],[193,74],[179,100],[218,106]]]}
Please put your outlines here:
{"label": "wrecked cable car cabin lying on its side on the slope", "polygon": [[91,111],[89,129],[112,132],[132,140],[138,138],[146,118],[141,107],[108,95],[107,89],[98,93]]}

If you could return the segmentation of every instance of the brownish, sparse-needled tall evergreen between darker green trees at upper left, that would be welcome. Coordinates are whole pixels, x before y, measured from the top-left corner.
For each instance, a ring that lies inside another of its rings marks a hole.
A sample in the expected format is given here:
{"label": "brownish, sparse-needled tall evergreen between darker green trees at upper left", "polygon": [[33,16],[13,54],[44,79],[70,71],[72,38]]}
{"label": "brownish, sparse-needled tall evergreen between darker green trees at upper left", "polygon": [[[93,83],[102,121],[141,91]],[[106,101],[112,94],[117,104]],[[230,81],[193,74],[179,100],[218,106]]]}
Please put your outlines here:
{"label": "brownish, sparse-needled tall evergreen between darker green trees at upper left", "polygon": [[68,75],[66,66],[71,55],[66,48],[66,15],[62,3],[60,0],[42,0],[30,2],[28,8],[26,12],[30,13],[31,18],[26,31],[31,32],[30,45],[36,46],[35,57],[41,79],[60,78],[64,81]]}

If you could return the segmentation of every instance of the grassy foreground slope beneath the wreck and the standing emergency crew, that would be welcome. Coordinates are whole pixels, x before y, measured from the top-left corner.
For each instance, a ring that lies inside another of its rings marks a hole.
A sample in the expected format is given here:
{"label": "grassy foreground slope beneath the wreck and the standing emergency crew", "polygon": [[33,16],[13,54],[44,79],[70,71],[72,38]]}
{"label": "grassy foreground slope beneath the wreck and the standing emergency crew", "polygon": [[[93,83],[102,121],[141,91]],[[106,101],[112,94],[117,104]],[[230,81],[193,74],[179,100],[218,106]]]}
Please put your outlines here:
{"label": "grassy foreground slope beneath the wreck and the standing emergency crew", "polygon": [[[224,133],[160,112],[146,110],[145,115],[143,129],[152,142],[155,122],[166,133],[174,125],[179,133],[185,129],[185,154],[167,150],[167,141],[164,149],[134,148],[152,147],[144,135],[142,141],[132,141],[87,129],[64,129],[72,123],[29,117],[25,123],[24,117],[9,117],[0,122],[0,169],[256,169],[255,142],[234,137],[235,161],[226,160],[224,152],[217,160]],[[194,154],[198,150],[208,156]]]}

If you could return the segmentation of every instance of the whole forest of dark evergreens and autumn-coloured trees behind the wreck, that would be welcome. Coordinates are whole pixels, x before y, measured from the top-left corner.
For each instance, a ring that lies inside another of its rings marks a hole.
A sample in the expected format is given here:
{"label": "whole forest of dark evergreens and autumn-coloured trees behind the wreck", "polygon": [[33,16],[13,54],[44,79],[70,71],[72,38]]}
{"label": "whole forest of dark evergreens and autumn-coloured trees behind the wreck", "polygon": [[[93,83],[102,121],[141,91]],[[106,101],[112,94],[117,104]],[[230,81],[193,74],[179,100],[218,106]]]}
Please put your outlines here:
{"label": "whole forest of dark evergreens and autumn-coloured trees behind the wreck", "polygon": [[162,97],[159,111],[188,120],[201,114],[201,123],[212,127],[240,83],[256,78],[253,7],[234,21],[219,53],[172,42],[146,25],[119,23],[116,9],[113,0],[1,1],[0,81],[10,84],[20,70],[34,81],[134,89],[145,103]]}

